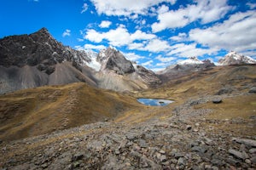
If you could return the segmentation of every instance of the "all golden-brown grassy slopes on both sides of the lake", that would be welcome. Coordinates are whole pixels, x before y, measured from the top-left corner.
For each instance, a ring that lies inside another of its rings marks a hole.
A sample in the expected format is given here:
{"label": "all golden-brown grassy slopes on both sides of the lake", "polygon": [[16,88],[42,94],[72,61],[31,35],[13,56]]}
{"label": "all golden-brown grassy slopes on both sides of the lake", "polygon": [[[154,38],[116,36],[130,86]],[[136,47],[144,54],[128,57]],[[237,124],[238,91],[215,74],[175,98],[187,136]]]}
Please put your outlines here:
{"label": "all golden-brown grassy slopes on both sides of the lake", "polygon": [[[76,127],[85,123],[104,121],[137,123],[149,119],[172,116],[177,105],[188,99],[214,95],[225,86],[246,93],[255,86],[256,65],[217,67],[209,71],[192,72],[160,88],[132,94],[117,94],[108,90],[90,88],[84,83],[21,90],[0,96],[0,139],[20,139],[49,133],[56,129]],[[241,78],[245,77],[245,78]],[[140,105],[136,97],[174,99],[164,107]],[[196,109],[212,109],[206,118],[224,120],[255,116],[256,95],[248,94],[224,99],[220,105],[195,105]],[[250,122],[253,123],[253,122]],[[255,122],[254,122],[255,123]],[[209,124],[206,123],[206,126]],[[242,133],[244,124],[231,124],[222,129],[236,129]],[[256,132],[255,126],[250,132]]]}

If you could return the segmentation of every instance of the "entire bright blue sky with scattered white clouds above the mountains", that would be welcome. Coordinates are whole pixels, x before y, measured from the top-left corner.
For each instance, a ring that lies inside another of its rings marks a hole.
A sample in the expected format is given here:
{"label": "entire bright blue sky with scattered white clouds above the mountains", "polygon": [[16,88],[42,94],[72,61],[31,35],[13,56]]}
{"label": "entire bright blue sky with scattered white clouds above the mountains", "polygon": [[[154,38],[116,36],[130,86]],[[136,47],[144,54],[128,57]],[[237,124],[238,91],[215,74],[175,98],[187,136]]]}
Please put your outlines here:
{"label": "entire bright blue sky with scattered white clouds above the mountains", "polygon": [[46,27],[76,49],[112,46],[160,71],[230,51],[256,59],[255,0],[0,0],[0,38]]}

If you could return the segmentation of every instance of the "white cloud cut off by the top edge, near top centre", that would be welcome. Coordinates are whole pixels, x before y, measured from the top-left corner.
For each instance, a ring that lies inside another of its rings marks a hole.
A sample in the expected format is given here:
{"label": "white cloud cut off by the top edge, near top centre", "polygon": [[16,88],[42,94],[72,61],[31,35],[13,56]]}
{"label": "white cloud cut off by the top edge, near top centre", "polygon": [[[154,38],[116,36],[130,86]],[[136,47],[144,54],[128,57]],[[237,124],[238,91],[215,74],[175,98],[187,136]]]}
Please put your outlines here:
{"label": "white cloud cut off by the top edge, near top centre", "polygon": [[177,0],[91,0],[98,14],[125,15],[147,14],[148,9],[162,2],[176,3]]}

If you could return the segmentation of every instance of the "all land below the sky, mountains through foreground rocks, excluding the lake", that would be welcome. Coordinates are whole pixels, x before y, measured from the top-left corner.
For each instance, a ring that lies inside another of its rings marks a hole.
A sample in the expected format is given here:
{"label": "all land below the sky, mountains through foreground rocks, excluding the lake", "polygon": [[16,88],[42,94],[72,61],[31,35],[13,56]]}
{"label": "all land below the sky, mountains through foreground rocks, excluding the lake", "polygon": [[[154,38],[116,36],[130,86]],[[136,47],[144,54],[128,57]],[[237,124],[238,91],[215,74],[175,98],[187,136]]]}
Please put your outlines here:
{"label": "all land below the sky, mountains through foreground rocks, excluding the lake", "polygon": [[113,47],[64,46],[45,28],[0,49],[0,168],[256,168],[253,59],[190,57],[154,72]]}

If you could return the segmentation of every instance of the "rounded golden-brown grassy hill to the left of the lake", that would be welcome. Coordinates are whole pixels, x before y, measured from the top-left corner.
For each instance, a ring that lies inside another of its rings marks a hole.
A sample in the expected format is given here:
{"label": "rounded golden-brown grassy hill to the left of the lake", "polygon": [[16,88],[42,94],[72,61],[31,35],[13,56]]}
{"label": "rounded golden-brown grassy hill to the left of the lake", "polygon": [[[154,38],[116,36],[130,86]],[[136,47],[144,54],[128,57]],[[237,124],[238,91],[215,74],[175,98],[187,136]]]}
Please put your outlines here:
{"label": "rounded golden-brown grassy hill to the left of the lake", "polygon": [[85,83],[20,90],[0,96],[0,139],[20,139],[104,121],[139,108],[136,99]]}

